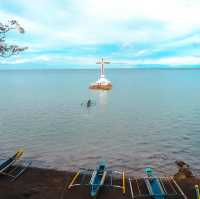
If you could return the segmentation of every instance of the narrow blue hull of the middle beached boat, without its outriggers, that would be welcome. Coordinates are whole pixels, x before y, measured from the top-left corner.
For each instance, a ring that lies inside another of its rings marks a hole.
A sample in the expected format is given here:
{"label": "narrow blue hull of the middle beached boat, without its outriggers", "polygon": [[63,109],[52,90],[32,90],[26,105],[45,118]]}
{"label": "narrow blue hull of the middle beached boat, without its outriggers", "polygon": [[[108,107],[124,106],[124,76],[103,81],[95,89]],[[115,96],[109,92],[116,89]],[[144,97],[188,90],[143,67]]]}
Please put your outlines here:
{"label": "narrow blue hull of the middle beached boat, without its outriggers", "polygon": [[101,186],[104,185],[106,174],[107,174],[107,165],[105,162],[101,162],[96,170],[93,171],[92,177],[90,180],[90,195],[96,197]]}

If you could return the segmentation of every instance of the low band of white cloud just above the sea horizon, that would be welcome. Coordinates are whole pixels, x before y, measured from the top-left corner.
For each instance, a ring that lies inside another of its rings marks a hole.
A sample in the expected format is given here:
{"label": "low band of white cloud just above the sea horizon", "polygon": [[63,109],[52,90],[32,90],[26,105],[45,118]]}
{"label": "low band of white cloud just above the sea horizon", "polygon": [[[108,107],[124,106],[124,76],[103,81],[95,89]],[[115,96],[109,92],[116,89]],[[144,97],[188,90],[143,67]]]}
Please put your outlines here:
{"label": "low band of white cloud just above the sea horizon", "polygon": [[[84,57],[84,56],[62,56],[62,55],[39,55],[33,56],[30,58],[21,58],[19,56],[13,57],[11,59],[3,59],[0,60],[0,64],[28,64],[28,63],[65,63],[66,65],[84,65],[91,66],[93,68],[97,68],[96,61],[98,58],[96,57]],[[189,66],[189,65],[200,65],[200,56],[173,56],[166,58],[158,58],[158,59],[110,59],[112,68],[113,66],[119,65],[120,67],[134,67],[137,65],[168,65],[169,67],[177,67],[177,66]]]}

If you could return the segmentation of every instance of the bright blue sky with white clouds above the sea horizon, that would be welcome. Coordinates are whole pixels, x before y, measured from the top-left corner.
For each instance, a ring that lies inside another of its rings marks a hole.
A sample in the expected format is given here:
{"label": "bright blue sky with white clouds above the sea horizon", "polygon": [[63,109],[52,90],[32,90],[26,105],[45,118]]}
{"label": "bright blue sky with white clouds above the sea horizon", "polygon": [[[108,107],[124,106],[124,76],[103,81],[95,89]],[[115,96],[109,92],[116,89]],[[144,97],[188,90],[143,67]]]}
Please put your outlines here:
{"label": "bright blue sky with white clouds above the sea horizon", "polygon": [[15,19],[28,46],[4,68],[199,67],[200,0],[0,0],[0,22]]}

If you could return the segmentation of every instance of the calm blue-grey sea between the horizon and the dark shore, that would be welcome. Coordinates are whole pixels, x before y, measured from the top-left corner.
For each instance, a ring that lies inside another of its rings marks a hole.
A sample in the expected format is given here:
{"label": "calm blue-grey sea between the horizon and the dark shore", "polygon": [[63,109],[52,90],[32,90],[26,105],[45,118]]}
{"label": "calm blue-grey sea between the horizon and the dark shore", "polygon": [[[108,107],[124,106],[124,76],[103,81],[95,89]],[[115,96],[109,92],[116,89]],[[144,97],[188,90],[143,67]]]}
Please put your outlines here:
{"label": "calm blue-grey sea between the horizon and the dark shore", "polygon": [[88,89],[98,70],[0,71],[2,156],[23,147],[34,166],[69,170],[106,159],[133,175],[184,160],[200,174],[200,70],[106,72],[110,92]]}

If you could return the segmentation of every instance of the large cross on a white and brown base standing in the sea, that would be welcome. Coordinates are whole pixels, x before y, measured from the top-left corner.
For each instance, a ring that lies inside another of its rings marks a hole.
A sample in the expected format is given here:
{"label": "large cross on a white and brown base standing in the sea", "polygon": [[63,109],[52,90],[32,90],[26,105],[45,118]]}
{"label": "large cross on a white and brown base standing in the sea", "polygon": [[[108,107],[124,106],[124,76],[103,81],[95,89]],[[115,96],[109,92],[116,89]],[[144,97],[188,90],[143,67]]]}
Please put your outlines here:
{"label": "large cross on a white and brown base standing in the sea", "polygon": [[97,90],[111,90],[112,83],[105,78],[104,72],[104,64],[110,64],[110,62],[104,61],[102,58],[100,62],[97,62],[97,64],[101,64],[100,78],[96,82],[90,84],[89,88]]}

